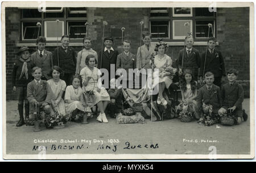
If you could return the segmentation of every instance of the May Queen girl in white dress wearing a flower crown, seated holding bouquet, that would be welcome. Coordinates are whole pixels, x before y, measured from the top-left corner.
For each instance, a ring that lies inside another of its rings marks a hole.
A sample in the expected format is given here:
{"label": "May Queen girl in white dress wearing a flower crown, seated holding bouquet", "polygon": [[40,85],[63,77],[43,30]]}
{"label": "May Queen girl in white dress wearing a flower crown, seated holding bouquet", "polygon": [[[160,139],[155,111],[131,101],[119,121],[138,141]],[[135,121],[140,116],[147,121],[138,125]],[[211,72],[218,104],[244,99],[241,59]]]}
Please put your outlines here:
{"label": "May Queen girl in white dress wearing a flower crown, seated holding bouquet", "polygon": [[[153,87],[158,85],[158,104],[167,105],[166,99],[163,97],[164,88],[169,88],[172,83],[172,76],[166,70],[166,67],[172,66],[172,58],[165,54],[168,45],[163,41],[156,44],[157,54],[154,58],[154,84]],[[158,71],[159,70],[159,71]]]}

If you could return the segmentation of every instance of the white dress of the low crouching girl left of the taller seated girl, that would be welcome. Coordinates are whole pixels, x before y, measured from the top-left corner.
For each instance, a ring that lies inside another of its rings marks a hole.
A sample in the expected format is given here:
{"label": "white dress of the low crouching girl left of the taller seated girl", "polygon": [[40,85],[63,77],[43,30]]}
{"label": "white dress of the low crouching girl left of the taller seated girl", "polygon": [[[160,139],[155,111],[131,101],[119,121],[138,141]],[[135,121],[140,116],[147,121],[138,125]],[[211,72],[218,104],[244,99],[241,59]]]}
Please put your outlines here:
{"label": "white dress of the low crouching girl left of the taller seated girl", "polygon": [[75,109],[79,109],[83,112],[92,112],[88,106],[82,106],[82,103],[84,103],[84,98],[82,95],[81,87],[74,88],[72,85],[67,86],[64,99],[75,101],[72,103],[65,103],[67,114],[72,113],[73,111],[75,111]]}

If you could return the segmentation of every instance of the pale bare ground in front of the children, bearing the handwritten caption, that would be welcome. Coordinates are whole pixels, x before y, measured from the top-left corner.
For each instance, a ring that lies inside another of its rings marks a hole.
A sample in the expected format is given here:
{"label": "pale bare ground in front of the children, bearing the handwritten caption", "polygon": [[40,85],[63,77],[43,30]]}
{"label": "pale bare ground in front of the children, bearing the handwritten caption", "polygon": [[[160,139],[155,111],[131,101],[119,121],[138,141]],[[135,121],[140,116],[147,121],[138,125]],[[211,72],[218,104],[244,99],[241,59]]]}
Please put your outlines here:
{"label": "pale bare ground in front of the children, bearing the handwritten caption", "polygon": [[[249,102],[249,99],[243,102],[248,114]],[[209,154],[210,146],[216,147],[217,154],[250,153],[250,118],[241,125],[208,127],[196,121],[181,123],[178,119],[146,120],[146,124],[116,124],[115,119],[109,119],[109,123],[104,124],[94,117],[86,125],[69,122],[63,129],[43,128],[41,132],[33,132],[32,126],[15,126],[19,117],[16,109],[16,101],[7,101],[7,154],[38,154],[34,146],[46,146],[47,154]],[[42,140],[56,141],[42,143]],[[60,143],[61,140],[75,143]],[[101,140],[104,149],[98,147]],[[130,149],[124,149],[127,144]],[[57,148],[59,145],[61,149]],[[69,145],[74,148],[69,149]],[[135,149],[131,149],[134,145]],[[156,148],[150,148],[151,145]],[[77,146],[82,148],[77,149]]]}

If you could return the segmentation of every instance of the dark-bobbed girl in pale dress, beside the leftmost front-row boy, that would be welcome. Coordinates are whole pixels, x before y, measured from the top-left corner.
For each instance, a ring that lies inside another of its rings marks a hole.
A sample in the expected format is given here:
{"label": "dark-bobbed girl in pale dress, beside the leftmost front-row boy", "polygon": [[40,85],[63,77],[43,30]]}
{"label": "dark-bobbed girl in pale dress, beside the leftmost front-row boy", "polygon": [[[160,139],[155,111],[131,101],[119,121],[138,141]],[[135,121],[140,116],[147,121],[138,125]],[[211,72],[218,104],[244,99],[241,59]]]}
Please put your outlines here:
{"label": "dark-bobbed girl in pale dress, beside the leftmost front-row boy", "polygon": [[59,66],[53,66],[51,73],[49,74],[52,79],[49,79],[47,82],[52,89],[52,102],[54,104],[55,110],[61,115],[66,115],[65,103],[62,99],[63,92],[66,89],[65,81],[60,79],[60,74],[63,73],[62,69]]}

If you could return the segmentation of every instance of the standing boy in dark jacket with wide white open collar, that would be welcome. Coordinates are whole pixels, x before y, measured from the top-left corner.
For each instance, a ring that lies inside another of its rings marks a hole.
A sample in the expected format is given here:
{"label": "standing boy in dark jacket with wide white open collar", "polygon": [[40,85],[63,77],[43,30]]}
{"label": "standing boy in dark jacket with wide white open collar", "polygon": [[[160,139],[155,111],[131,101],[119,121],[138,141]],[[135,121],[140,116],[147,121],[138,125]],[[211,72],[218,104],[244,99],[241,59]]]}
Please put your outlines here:
{"label": "standing boy in dark jacket with wide white open collar", "polygon": [[[104,39],[105,48],[98,53],[98,69],[108,70],[108,73],[109,73],[108,82],[110,81],[110,65],[115,66],[115,63],[117,62],[117,56],[119,54],[117,50],[113,49],[112,47],[113,42],[114,40],[112,37],[105,37]],[[101,56],[101,52],[102,52],[102,56]],[[115,73],[115,68],[114,68],[114,73]]]}

